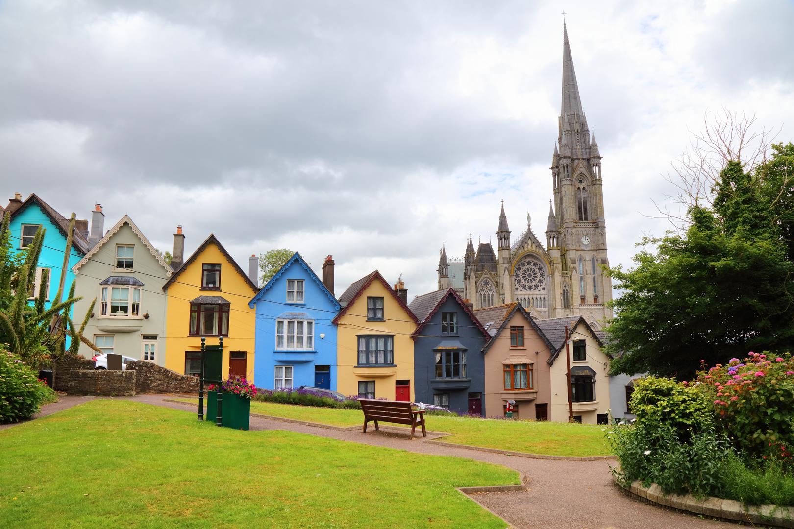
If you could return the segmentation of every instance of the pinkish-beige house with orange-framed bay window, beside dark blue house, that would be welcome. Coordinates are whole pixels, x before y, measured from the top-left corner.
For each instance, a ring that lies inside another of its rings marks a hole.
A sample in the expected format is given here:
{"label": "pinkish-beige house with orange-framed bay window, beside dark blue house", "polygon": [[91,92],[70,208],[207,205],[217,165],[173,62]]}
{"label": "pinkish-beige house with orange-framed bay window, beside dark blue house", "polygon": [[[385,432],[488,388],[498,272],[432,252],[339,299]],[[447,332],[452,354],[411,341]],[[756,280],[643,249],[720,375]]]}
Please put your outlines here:
{"label": "pinkish-beige house with orange-framed bay window, beside dark blue house", "polygon": [[492,336],[483,347],[485,416],[504,416],[513,401],[514,417],[549,420],[553,347],[538,324],[517,301],[474,314]]}

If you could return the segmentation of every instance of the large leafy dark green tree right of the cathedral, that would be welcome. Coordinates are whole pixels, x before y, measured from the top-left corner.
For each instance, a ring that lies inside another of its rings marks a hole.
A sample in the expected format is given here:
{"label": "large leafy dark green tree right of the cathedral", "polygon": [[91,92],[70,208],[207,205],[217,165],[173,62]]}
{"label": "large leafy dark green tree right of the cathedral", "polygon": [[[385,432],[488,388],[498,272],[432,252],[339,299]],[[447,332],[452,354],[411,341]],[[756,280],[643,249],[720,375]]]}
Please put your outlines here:
{"label": "large leafy dark green tree right of the cathedral", "polygon": [[771,215],[757,177],[730,161],[683,233],[646,237],[633,270],[608,271],[625,291],[607,327],[613,372],[689,378],[700,359],[788,348],[794,263]]}

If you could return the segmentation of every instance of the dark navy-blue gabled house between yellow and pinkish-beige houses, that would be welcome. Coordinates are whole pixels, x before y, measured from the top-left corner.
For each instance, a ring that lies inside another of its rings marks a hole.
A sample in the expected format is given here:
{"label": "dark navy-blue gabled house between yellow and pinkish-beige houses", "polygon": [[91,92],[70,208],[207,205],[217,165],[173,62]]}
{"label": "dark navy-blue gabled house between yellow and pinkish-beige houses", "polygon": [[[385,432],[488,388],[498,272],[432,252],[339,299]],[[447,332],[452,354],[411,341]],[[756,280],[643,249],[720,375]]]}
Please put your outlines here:
{"label": "dark navy-blue gabled house between yellow and pinkish-beige houses", "polygon": [[414,399],[453,412],[483,415],[483,346],[491,335],[454,289],[414,297]]}

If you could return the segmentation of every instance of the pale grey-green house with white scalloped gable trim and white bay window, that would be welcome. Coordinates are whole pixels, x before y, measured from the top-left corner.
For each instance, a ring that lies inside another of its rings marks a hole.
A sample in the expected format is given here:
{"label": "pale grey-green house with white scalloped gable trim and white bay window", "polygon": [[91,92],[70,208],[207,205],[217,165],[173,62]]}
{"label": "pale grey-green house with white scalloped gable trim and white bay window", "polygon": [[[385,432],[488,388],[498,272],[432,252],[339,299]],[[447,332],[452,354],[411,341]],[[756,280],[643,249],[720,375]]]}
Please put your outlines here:
{"label": "pale grey-green house with white scalloped gable trim and white bay window", "polygon": [[[72,268],[75,312],[83,315],[95,300],[83,335],[106,353],[165,365],[168,265],[127,215],[102,236]],[[82,316],[81,316],[82,317]],[[80,344],[80,354],[94,350]]]}

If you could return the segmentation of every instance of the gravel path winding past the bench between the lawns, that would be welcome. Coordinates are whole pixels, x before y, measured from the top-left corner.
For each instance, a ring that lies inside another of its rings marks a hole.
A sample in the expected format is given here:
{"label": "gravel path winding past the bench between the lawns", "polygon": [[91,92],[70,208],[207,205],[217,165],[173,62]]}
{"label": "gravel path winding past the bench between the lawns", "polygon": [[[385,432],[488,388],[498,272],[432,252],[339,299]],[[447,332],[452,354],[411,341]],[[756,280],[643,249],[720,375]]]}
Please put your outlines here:
{"label": "gravel path winding past the bench between the lawns", "polygon": [[[157,404],[186,412],[196,412],[195,404],[164,402],[163,395],[130,397],[134,401]],[[427,418],[430,429],[433,417]],[[480,493],[472,499],[495,512],[515,527],[527,529],[677,529],[678,527],[737,527],[734,523],[700,519],[633,500],[613,485],[608,461],[555,461],[530,459],[464,448],[442,447],[419,437],[408,439],[408,431],[338,431],[307,424],[251,417],[252,430],[299,431],[320,437],[341,439],[378,447],[410,450],[422,454],[453,455],[507,466],[529,478],[529,490],[511,493]],[[612,462],[612,464],[615,464]]]}

